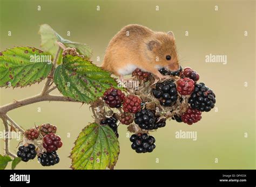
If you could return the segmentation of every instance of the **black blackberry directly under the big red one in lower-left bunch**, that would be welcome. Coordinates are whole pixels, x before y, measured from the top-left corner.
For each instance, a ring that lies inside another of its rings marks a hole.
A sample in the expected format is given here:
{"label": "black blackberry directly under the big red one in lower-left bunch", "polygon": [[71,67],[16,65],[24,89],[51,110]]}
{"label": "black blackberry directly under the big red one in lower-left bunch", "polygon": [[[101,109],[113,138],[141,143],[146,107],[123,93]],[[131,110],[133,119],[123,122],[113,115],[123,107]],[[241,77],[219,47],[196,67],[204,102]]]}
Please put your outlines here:
{"label": "black blackberry directly under the big red one in lower-left bunch", "polygon": [[59,156],[55,151],[51,153],[44,152],[38,156],[37,160],[41,163],[42,166],[53,166],[59,163]]}

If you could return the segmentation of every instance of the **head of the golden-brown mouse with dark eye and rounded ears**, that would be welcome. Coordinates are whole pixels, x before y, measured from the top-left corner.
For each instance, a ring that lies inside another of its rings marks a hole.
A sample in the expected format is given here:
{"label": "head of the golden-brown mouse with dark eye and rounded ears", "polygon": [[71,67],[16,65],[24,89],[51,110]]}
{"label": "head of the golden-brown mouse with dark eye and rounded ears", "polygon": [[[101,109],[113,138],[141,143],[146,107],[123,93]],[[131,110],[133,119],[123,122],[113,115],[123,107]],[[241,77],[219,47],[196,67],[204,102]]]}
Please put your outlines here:
{"label": "head of the golden-brown mouse with dark eye and rounded ears", "polygon": [[179,62],[173,32],[156,32],[155,36],[156,38],[147,43],[147,49],[149,49],[147,55],[155,61],[158,68],[178,70]]}

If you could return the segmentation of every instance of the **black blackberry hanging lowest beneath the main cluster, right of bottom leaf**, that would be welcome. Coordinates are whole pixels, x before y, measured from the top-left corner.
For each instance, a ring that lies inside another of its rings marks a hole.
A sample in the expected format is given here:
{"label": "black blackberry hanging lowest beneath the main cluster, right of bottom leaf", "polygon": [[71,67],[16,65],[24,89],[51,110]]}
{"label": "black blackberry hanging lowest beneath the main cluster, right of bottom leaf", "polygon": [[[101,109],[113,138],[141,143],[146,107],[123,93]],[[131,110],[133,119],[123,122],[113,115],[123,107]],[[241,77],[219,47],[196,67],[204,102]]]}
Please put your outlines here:
{"label": "black blackberry hanging lowest beneath the main cluster, right of bottom leaf", "polygon": [[132,142],[131,147],[136,153],[150,153],[156,148],[154,144],[156,140],[153,136],[148,136],[146,133],[132,134],[130,141]]}

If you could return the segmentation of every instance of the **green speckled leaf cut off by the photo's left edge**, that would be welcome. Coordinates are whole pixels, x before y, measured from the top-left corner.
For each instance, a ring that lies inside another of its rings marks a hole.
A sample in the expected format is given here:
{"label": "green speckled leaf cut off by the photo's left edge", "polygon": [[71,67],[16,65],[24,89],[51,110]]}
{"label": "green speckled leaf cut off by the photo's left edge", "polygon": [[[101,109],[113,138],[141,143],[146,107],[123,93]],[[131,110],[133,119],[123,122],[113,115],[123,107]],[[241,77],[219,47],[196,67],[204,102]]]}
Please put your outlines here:
{"label": "green speckled leaf cut off by the photo's left edge", "polygon": [[51,69],[51,55],[37,48],[6,49],[0,52],[0,87],[25,87],[39,83]]}

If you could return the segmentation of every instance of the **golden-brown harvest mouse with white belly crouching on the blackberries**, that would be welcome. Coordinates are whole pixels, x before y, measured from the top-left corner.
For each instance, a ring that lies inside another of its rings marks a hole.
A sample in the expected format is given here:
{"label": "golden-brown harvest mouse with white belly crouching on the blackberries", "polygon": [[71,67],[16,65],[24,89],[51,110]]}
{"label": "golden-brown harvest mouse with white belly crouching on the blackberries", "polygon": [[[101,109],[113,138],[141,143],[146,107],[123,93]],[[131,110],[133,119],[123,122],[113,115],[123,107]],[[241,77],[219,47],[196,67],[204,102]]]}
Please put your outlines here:
{"label": "golden-brown harvest mouse with white belly crouching on the blackberries", "polygon": [[136,68],[156,75],[159,80],[166,76],[158,69],[179,69],[178,55],[173,32],[154,32],[142,25],[131,24],[120,30],[107,46],[102,68],[123,80]]}

